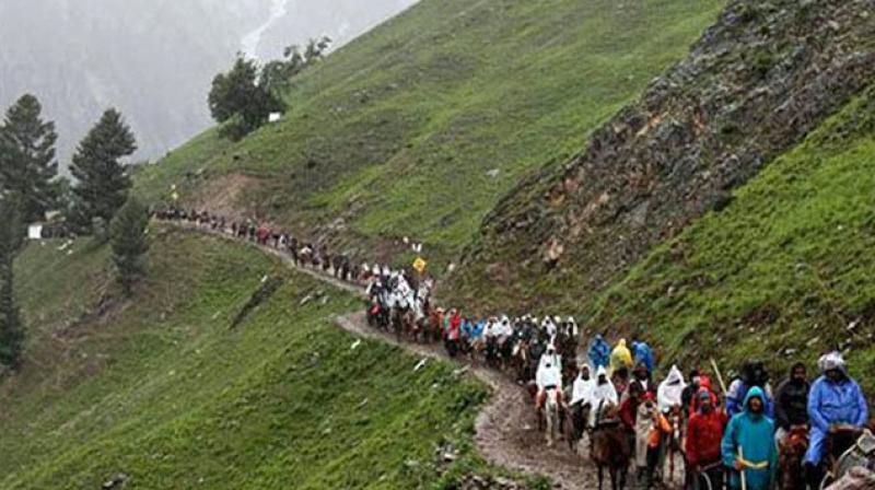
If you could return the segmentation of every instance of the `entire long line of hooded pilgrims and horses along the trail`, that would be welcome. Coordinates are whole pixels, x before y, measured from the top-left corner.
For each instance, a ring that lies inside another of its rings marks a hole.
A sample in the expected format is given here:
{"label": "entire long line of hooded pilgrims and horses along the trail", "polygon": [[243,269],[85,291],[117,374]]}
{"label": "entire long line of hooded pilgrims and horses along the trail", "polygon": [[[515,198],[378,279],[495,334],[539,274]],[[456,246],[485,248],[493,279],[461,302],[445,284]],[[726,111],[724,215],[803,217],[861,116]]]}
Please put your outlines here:
{"label": "entire long line of hooded pilgrims and horses along the trail", "polygon": [[[861,465],[875,470],[875,444],[864,430],[870,424],[866,398],[839,352],[819,359],[814,380],[804,363],[795,363],[777,388],[766,365],[754,361],[742,365],[726,388],[712,377],[720,373],[693,369],[685,377],[676,365],[657,382],[656,357],[646,342],[620,339],[611,346],[595,335],[579,352],[584,339],[573,317],[474,318],[431,305],[434,283],[428,276],[353,266],[341,254],[331,256],[325,247],[252,221],[229,222],[175,208],[153,215],[271,246],[299,266],[365,285],[372,327],[410,341],[442,342],[453,358],[506,371],[530,388],[538,412],[553,392],[572,446],[603,428],[622,429],[635,481],[644,488],[662,483],[666,459],[674,464],[679,455],[685,488],[819,489],[833,470],[828,456],[841,455],[860,438],[873,451]],[[841,436],[848,441],[838,451]]]}

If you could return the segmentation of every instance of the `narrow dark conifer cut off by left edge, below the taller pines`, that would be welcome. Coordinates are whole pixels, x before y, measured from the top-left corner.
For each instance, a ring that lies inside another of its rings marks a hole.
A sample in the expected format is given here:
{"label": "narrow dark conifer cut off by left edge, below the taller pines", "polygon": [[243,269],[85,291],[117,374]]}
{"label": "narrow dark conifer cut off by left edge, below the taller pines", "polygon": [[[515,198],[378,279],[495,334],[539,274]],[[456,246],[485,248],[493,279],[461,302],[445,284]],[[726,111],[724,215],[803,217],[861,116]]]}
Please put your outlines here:
{"label": "narrow dark conifer cut off by left edge, below the taller pines", "polygon": [[12,370],[21,366],[24,350],[24,327],[15,303],[12,269],[24,236],[19,208],[9,198],[0,201],[0,364]]}

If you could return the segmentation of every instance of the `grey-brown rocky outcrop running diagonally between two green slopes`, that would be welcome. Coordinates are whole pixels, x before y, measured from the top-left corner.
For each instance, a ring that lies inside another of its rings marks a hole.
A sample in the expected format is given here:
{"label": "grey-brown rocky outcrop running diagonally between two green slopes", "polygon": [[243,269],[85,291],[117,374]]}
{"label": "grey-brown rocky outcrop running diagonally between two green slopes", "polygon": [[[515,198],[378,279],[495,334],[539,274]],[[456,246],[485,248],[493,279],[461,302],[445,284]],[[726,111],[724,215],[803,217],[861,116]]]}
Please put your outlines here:
{"label": "grey-brown rocky outcrop running diagonally between two green slopes", "polygon": [[875,0],[732,1],[689,57],[582,153],[501,200],[466,250],[460,288],[447,290],[487,277],[513,284],[508,299],[526,304],[571,283],[604,288],[691,220],[728,206],[733,189],[873,75]]}

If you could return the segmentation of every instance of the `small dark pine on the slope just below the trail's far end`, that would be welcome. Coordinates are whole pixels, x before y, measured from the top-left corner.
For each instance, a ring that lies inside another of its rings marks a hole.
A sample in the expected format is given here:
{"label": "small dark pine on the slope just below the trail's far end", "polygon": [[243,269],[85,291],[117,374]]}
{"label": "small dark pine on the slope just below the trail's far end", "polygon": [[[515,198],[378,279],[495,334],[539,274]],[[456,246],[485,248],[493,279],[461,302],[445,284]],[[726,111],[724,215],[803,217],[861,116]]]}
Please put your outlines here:
{"label": "small dark pine on the slope just below the trail's far end", "polygon": [[118,211],[109,228],[113,262],[126,296],[131,295],[133,284],[143,275],[142,256],[149,250],[149,243],[145,241],[148,224],[147,208],[137,198],[131,197]]}

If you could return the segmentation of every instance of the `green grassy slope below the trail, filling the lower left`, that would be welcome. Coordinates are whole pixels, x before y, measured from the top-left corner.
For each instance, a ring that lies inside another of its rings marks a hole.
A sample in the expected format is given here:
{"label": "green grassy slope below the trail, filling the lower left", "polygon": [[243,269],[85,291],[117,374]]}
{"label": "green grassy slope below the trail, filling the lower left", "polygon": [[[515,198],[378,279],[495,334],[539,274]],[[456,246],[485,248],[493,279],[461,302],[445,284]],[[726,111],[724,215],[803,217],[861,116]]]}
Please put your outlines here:
{"label": "green grassy slope below the trail, filling the lower left", "polygon": [[[149,279],[117,300],[106,250],[32,245],[16,267],[30,331],[0,389],[0,488],[441,488],[481,468],[479,383],[329,315],[358,302],[252,248],[152,230]],[[236,328],[262,278],[281,287]],[[72,318],[72,319],[71,319]],[[436,464],[452,443],[460,458]]]}

